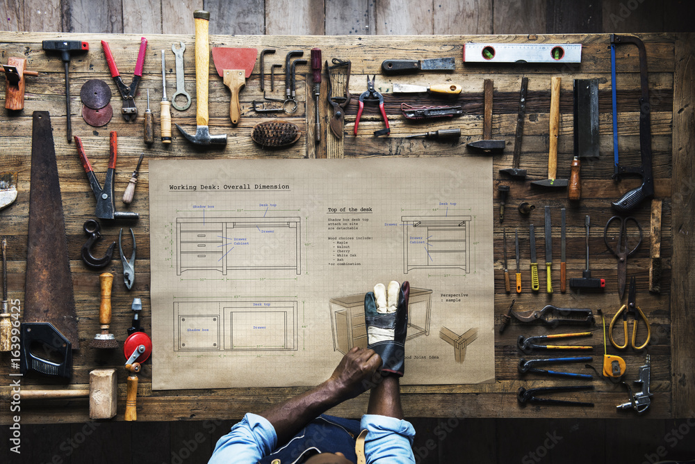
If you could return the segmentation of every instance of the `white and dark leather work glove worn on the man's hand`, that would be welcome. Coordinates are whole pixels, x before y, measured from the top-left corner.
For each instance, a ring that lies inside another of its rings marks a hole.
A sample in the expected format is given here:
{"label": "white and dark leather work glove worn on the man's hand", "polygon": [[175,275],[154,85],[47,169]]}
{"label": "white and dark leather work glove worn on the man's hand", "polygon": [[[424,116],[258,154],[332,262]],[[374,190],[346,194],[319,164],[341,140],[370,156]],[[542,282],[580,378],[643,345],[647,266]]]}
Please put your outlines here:
{"label": "white and dark leather work glove worn on the man's hand", "polygon": [[399,286],[392,280],[388,291],[384,284],[377,284],[364,296],[367,348],[381,356],[382,374],[403,376],[409,294],[408,282]]}

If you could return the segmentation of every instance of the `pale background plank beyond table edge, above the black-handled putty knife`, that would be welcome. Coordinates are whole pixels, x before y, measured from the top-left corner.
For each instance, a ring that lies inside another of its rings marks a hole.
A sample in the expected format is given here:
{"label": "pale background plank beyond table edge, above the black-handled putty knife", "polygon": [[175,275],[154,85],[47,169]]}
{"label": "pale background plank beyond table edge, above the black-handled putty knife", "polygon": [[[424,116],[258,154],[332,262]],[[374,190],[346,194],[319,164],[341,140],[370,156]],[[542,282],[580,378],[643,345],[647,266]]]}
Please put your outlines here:
{"label": "pale background plank beyond table edge, above the black-handled putty knife", "polygon": [[434,1],[409,3],[384,0],[377,2],[377,34],[422,35],[434,33]]}

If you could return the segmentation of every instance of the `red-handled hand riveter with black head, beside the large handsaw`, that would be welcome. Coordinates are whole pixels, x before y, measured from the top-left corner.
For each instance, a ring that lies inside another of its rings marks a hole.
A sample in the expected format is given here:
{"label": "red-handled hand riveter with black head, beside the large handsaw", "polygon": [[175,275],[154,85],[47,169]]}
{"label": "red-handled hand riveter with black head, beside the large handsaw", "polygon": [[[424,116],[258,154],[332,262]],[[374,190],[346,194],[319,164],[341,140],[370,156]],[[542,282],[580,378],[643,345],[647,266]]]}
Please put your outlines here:
{"label": "red-handled hand riveter with black head, beside the large handsaw", "polygon": [[116,131],[111,131],[109,138],[109,152],[110,156],[108,158],[108,170],[106,170],[106,179],[104,179],[104,189],[99,185],[97,176],[94,174],[92,165],[87,158],[82,141],[78,136],[74,136],[75,145],[77,146],[77,153],[80,155],[80,161],[82,161],[82,167],[87,173],[87,178],[89,179],[90,186],[92,187],[92,192],[97,199],[97,209],[95,209],[95,216],[99,219],[124,219],[126,221],[137,221],[140,218],[140,214],[131,212],[116,211],[115,202],[113,201],[113,175],[116,170],[116,152],[117,152],[117,138]]}

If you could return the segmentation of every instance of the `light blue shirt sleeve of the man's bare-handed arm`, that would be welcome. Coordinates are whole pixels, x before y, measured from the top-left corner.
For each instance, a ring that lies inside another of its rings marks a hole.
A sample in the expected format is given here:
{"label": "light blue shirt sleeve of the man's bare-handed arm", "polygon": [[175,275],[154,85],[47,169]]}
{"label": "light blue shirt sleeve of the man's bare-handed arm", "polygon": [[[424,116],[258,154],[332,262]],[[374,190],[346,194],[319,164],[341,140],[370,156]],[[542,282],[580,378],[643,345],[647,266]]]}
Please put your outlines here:
{"label": "light blue shirt sleeve of the man's bare-handed arm", "polygon": [[275,428],[268,419],[249,413],[218,440],[208,464],[255,464],[276,444]]}

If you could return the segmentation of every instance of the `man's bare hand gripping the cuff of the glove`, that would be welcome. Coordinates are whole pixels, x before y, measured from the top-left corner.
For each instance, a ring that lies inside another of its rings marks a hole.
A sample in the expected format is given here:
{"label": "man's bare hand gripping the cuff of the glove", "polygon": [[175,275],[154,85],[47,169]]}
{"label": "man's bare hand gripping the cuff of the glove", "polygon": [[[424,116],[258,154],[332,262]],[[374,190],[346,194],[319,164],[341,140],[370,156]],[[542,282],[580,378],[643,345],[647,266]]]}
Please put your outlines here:
{"label": "man's bare hand gripping the cuff of the glove", "polygon": [[357,397],[377,383],[375,374],[382,365],[382,358],[371,349],[353,346],[328,379],[336,388],[341,401]]}

